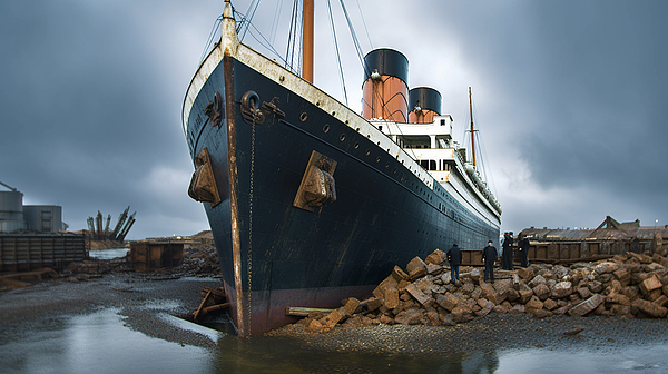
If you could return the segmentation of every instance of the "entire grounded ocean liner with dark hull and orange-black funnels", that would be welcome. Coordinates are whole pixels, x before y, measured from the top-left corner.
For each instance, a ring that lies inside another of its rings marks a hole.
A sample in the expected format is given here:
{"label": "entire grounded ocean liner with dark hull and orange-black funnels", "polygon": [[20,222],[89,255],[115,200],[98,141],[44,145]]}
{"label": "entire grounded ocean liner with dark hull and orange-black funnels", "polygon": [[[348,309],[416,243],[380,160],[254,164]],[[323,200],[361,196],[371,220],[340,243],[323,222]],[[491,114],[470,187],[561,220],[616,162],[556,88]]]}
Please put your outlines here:
{"label": "entire grounded ocean liner with dark hull and orange-black funnels", "polygon": [[226,1],[183,106],[188,194],[204,204],[239,336],[294,322],[287,306],[366,296],[415,256],[499,238],[499,203],[453,141],[441,95],[409,91],[392,49],[364,58],[362,115],[318,90],[304,2],[302,77],[240,43]]}

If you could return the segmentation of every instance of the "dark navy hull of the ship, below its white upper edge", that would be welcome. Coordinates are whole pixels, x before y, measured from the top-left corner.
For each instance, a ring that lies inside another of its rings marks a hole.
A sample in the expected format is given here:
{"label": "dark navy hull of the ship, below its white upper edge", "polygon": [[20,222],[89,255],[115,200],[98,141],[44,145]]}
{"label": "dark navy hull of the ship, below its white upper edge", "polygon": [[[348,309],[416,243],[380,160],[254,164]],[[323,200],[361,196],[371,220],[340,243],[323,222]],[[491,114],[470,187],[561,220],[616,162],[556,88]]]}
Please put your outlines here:
{"label": "dark navy hull of the ship, below its white upper edge", "polygon": [[[223,119],[213,126],[205,109],[216,92]],[[258,107],[278,110],[248,119],[248,92]],[[204,148],[210,157],[222,203],[204,206],[240,336],[294,322],[286,306],[336,307],[344,297],[367,296],[394,265],[415,256],[498,240],[498,225],[443,188],[428,188],[334,114],[234,57],[210,73],[186,128],[191,157]],[[313,151],[337,163],[337,199],[307,211],[293,201]]]}

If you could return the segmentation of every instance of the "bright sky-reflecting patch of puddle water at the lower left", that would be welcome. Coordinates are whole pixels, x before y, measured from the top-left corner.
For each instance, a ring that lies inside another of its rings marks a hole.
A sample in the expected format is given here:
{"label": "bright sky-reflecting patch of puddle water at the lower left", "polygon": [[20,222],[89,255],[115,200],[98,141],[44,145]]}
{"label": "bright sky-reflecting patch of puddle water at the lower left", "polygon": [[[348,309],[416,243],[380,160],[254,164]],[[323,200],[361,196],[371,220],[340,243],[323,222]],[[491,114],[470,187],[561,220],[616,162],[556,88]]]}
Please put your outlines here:
{"label": "bright sky-reflecting patch of puddle water at the lower left", "polygon": [[206,373],[210,365],[207,350],[131,331],[116,309],[0,341],[2,373]]}

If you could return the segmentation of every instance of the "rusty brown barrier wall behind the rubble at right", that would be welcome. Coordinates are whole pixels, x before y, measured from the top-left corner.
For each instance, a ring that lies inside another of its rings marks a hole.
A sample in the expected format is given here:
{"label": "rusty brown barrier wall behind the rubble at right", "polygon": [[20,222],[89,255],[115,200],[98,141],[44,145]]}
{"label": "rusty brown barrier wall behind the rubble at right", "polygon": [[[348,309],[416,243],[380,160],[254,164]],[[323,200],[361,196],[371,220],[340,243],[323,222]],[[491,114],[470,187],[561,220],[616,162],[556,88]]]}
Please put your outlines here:
{"label": "rusty brown barrier wall behind the rubble at right", "polygon": [[626,252],[668,254],[668,245],[664,244],[668,240],[668,226],[640,226],[639,219],[619,223],[607,216],[595,229],[531,227],[518,235],[522,236],[530,242],[530,262],[592,260]]}

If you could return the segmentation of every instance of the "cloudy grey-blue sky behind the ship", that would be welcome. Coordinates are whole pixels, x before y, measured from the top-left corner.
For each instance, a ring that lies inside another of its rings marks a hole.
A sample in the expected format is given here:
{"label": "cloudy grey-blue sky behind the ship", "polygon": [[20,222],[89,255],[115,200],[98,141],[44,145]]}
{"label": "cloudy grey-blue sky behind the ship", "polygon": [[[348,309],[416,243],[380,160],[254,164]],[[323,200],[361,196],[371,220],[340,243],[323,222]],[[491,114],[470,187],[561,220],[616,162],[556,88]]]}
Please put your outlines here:
{"label": "cloudy grey-blue sky behind the ship", "polygon": [[[316,2],[315,85],[343,101],[326,2]],[[249,3],[234,1],[242,13]],[[279,51],[289,3],[265,0],[253,19]],[[606,215],[668,224],[668,2],[346,7],[364,53],[402,51],[409,86],[441,92],[461,142],[472,87],[502,230],[596,227]],[[338,1],[332,10],[358,110],[360,59]],[[180,110],[222,11],[222,0],[0,1],[0,181],[27,205],[62,206],[73,230],[98,210],[115,223],[128,205],[137,211],[129,239],[208,229],[186,193]],[[250,33],[244,41],[261,49]]]}

